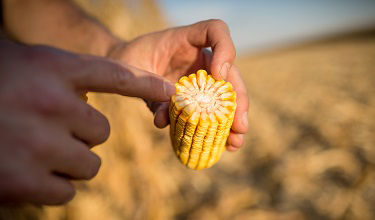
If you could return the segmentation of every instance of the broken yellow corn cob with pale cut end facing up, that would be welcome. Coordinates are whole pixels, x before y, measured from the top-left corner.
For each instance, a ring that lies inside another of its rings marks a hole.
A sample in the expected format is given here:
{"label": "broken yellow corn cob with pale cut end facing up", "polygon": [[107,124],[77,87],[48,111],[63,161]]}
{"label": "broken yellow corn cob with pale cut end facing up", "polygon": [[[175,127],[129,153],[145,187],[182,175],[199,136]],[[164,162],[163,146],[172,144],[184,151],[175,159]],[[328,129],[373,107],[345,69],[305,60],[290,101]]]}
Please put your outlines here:
{"label": "broken yellow corn cob with pale cut end facing up", "polygon": [[190,169],[214,165],[225,150],[236,111],[232,84],[206,71],[183,76],[169,105],[170,137],[179,160]]}

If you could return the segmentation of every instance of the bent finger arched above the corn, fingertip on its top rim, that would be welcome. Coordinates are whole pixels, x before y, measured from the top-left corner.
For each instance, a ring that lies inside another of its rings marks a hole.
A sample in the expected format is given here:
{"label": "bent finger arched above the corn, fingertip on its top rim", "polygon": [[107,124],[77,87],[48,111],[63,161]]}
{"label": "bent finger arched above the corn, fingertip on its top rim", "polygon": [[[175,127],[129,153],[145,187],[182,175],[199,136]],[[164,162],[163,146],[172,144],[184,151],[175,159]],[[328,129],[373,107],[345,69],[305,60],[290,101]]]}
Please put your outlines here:
{"label": "bent finger arched above the corn, fingertip on its top rim", "polygon": [[215,79],[226,79],[236,57],[236,49],[228,25],[217,19],[188,26],[188,41],[197,47],[211,47],[210,71]]}

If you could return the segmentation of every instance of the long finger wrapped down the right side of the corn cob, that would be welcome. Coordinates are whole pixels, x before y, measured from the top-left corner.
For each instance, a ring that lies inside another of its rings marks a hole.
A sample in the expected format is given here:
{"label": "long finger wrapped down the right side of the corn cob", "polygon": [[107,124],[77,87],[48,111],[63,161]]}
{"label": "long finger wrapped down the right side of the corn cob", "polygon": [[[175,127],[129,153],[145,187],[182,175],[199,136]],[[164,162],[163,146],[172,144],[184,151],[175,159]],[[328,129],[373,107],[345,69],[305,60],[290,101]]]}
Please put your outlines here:
{"label": "long finger wrapped down the right side of the corn cob", "polygon": [[232,83],[237,93],[237,109],[232,129],[234,132],[245,134],[248,130],[249,97],[238,67],[232,66],[227,80]]}

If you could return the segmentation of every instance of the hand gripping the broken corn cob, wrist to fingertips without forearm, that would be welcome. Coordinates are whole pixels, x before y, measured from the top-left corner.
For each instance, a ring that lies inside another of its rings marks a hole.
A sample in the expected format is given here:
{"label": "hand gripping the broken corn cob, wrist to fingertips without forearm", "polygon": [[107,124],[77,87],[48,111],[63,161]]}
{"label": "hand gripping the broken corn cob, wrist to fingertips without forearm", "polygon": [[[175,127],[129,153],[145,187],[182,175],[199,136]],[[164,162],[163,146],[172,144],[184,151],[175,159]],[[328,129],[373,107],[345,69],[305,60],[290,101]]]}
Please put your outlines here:
{"label": "hand gripping the broken corn cob, wrist to fingertips without forearm", "polygon": [[[212,53],[206,47],[211,47]],[[198,69],[208,70],[215,79],[231,82],[237,93],[237,110],[227,150],[236,151],[243,144],[244,134],[248,130],[249,101],[240,71],[233,64],[235,55],[226,23],[207,20],[146,34],[130,42],[120,42],[108,56],[156,73],[171,82],[177,82],[181,76]],[[155,125],[166,127],[169,123],[169,103],[145,101],[155,113]]]}

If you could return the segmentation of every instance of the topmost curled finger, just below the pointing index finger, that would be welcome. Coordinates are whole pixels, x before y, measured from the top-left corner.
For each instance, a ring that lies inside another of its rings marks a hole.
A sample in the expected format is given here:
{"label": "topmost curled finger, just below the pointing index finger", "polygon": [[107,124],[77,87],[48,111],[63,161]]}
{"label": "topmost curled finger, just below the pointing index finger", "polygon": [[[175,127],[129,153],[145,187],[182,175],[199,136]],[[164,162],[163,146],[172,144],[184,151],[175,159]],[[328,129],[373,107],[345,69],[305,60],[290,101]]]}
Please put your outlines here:
{"label": "topmost curled finger, just below the pointing index finger", "polygon": [[107,118],[95,108],[77,97],[71,97],[70,105],[62,112],[65,123],[73,136],[93,147],[108,139],[110,126]]}

